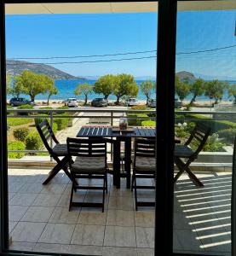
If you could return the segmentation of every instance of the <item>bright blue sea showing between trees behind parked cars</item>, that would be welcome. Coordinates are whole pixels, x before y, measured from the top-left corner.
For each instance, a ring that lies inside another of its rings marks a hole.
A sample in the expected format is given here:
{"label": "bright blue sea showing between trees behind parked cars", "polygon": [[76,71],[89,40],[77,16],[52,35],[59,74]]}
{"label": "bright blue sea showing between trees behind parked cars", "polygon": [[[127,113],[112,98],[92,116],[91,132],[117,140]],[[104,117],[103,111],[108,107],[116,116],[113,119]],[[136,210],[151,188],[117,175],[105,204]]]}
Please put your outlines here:
{"label": "bright blue sea showing between trees behind parked cars", "polygon": [[[76,89],[76,87],[78,86],[78,84],[83,84],[83,83],[88,83],[88,84],[95,84],[96,80],[82,80],[82,79],[78,79],[78,80],[55,80],[55,87],[58,89],[58,93],[57,95],[53,95],[50,97],[50,100],[66,100],[69,97],[76,97],[78,100],[83,100],[84,96],[75,96],[74,95],[74,90]],[[136,80],[136,83],[138,84],[138,86],[141,85],[141,83],[143,82],[143,80]],[[236,84],[236,80],[235,81],[227,81],[228,84]],[[30,99],[29,96],[25,96],[25,95],[21,95],[22,97],[25,97],[26,99]],[[95,97],[101,97],[102,95],[96,94],[95,92],[92,92],[88,99],[94,99]],[[8,95],[8,99],[10,99],[12,96]],[[151,95],[151,97],[155,97],[155,92],[153,92],[153,94]],[[45,94],[38,94],[35,97],[36,100],[47,100],[48,99],[48,95]],[[116,96],[109,96],[108,100],[115,100]],[[143,95],[141,93],[141,90],[139,90],[137,99],[139,100],[146,100],[146,96]],[[192,95],[188,95],[186,97],[185,100],[191,100],[192,99]],[[223,98],[223,101],[228,101],[230,100],[229,96],[227,95],[227,91],[225,91]],[[209,101],[209,98],[206,96],[198,96],[197,97],[197,101]]]}

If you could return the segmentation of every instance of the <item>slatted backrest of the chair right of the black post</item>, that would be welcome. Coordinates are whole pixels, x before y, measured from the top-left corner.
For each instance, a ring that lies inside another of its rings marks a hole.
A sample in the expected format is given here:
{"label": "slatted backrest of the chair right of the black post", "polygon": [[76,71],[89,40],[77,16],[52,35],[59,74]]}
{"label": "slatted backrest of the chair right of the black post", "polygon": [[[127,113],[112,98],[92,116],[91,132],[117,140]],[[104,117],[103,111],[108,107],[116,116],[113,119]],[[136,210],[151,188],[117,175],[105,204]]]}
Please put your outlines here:
{"label": "slatted backrest of the chair right of the black post", "polygon": [[185,145],[189,145],[193,141],[198,144],[198,147],[194,151],[193,155],[198,155],[199,152],[204,148],[204,144],[207,141],[207,138],[210,136],[210,127],[207,127],[203,124],[197,123],[193,131],[191,132],[190,137],[187,139]]}

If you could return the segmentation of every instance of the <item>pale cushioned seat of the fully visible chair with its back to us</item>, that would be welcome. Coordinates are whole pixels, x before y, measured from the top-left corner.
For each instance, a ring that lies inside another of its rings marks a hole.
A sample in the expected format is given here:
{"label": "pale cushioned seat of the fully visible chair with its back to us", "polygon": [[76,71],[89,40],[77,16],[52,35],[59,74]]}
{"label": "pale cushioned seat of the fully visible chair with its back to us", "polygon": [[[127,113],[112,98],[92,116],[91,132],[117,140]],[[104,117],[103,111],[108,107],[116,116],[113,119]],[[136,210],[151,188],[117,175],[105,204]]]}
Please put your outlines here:
{"label": "pale cushioned seat of the fully visible chair with its back to us", "polygon": [[104,157],[78,156],[72,164],[72,172],[105,172],[106,164]]}

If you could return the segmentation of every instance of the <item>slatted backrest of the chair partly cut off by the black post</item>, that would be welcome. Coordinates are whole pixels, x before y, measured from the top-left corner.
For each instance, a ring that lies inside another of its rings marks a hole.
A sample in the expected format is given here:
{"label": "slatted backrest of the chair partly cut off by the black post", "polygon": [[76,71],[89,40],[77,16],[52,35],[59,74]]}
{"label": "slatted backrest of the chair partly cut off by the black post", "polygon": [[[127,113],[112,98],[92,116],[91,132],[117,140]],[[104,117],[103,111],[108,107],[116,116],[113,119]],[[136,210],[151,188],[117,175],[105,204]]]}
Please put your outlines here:
{"label": "slatted backrest of the chair partly cut off by the black post", "polygon": [[[135,140],[135,160],[137,156],[155,157],[156,141],[151,139]],[[135,162],[134,162],[135,164]]]}

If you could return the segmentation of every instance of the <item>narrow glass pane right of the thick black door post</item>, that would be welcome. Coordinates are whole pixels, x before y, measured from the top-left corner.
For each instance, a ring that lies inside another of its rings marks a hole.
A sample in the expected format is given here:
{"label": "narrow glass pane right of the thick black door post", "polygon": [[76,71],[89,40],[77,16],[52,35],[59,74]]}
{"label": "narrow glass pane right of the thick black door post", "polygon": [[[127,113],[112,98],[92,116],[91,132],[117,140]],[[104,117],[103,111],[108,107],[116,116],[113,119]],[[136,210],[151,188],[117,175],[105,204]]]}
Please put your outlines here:
{"label": "narrow glass pane right of the thick black door post", "polygon": [[231,252],[235,15],[227,1],[178,3],[175,174],[184,171],[174,192],[176,253]]}

